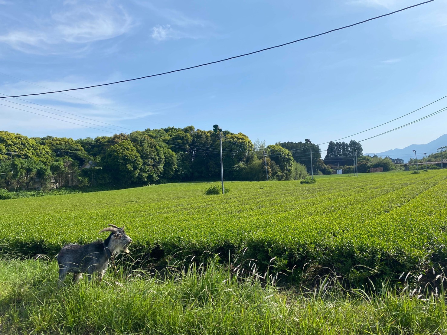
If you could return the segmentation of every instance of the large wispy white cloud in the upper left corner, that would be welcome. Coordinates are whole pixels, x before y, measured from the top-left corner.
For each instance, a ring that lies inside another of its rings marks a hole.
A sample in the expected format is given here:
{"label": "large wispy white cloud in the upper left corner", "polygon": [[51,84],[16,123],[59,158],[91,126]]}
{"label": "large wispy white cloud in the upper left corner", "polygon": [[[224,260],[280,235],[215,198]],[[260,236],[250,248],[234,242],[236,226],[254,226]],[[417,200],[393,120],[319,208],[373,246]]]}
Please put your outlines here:
{"label": "large wispy white cloud in the upper left corner", "polygon": [[[1,0],[0,0],[1,1]],[[34,54],[71,54],[87,50],[85,44],[125,34],[132,27],[127,12],[110,2],[66,3],[63,11],[35,18],[33,27],[11,29],[0,42]],[[84,44],[84,45],[82,45]]]}

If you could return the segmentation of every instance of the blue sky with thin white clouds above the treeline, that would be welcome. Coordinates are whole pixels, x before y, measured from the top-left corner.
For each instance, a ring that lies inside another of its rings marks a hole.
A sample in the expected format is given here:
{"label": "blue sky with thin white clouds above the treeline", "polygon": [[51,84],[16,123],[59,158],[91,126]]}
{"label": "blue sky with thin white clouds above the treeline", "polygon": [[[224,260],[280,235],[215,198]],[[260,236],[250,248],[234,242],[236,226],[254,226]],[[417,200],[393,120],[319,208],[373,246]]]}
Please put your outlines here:
{"label": "blue sky with thin white clouds above the treeline", "polygon": [[[76,88],[189,67],[416,3],[0,0],[0,93]],[[67,92],[68,96],[22,98],[53,109],[0,100],[8,105],[0,105],[0,129],[30,137],[76,139],[165,126],[210,130],[217,123],[224,130],[242,132],[266,144],[305,138],[316,144],[328,142],[447,95],[446,37],[447,3],[436,0],[228,62]],[[352,139],[360,141],[446,106],[447,98]],[[446,125],[447,111],[362,142],[363,150],[380,152],[427,143],[445,134]],[[325,150],[327,145],[320,147]]]}

